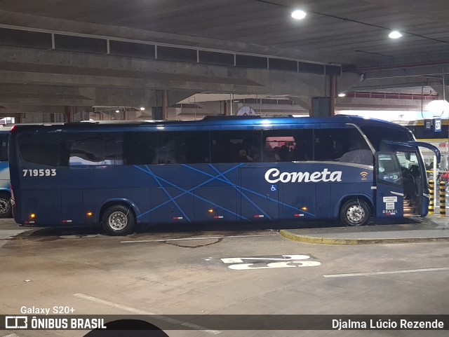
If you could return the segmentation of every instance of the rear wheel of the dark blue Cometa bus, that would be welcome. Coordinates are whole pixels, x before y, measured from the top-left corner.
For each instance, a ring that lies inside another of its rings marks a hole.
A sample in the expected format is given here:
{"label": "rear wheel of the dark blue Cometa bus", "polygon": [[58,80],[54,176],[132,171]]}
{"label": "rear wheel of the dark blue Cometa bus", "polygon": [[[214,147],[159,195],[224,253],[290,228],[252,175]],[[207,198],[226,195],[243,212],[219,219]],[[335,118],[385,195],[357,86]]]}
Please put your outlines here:
{"label": "rear wheel of the dark blue Cometa bus", "polygon": [[114,205],[105,210],[101,224],[110,235],[126,235],[133,230],[134,213],[130,207]]}

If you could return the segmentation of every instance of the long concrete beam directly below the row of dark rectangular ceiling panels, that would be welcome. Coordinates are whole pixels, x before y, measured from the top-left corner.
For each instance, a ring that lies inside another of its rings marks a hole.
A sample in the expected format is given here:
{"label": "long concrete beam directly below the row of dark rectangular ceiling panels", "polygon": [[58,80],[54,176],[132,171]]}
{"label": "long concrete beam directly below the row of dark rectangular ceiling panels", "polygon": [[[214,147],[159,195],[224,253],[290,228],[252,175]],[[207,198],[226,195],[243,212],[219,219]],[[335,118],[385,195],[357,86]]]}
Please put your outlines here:
{"label": "long concrete beam directly below the row of dark rectangular ceiling panels", "polygon": [[320,96],[326,92],[324,75],[13,47],[0,50],[0,79],[3,83],[32,85],[304,97]]}

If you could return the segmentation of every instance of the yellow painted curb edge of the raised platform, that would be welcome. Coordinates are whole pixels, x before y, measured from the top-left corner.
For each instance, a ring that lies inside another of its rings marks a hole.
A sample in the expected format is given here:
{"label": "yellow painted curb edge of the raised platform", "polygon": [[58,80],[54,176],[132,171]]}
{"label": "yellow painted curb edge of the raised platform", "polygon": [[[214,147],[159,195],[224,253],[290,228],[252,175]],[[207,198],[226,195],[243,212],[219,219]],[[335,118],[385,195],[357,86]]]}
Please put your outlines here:
{"label": "yellow painted curb edge of the raised platform", "polygon": [[324,245],[368,245],[376,243],[417,243],[417,242],[448,242],[449,238],[387,238],[387,239],[335,239],[314,238],[307,235],[293,234],[285,229],[279,231],[283,238],[298,242],[320,243]]}

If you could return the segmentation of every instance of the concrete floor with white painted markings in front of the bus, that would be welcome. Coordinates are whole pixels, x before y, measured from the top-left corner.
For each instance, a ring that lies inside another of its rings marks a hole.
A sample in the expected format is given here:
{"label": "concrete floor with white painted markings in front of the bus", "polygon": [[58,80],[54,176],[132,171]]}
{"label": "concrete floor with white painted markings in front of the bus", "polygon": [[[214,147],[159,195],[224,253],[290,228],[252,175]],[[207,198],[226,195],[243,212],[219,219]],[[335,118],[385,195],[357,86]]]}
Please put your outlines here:
{"label": "concrete floor with white painted markings in front of the bus", "polygon": [[[76,315],[449,312],[449,242],[317,245],[286,240],[278,235],[279,228],[269,227],[201,226],[192,232],[159,227],[109,237],[95,230],[36,230],[0,220],[0,315],[20,315],[21,306],[55,305],[74,308]],[[299,262],[279,261],[288,255]],[[242,257],[259,260],[229,260]],[[445,331],[397,330],[219,332],[219,336],[447,336]],[[0,337],[86,333],[5,330]]]}

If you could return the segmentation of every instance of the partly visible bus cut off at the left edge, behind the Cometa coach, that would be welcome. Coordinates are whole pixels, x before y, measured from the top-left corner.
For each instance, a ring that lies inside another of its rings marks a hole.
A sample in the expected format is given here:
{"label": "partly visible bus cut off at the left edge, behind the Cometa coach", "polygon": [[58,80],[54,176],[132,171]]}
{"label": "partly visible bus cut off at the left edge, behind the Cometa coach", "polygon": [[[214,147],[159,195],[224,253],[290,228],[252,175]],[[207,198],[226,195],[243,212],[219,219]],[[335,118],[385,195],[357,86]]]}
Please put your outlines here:
{"label": "partly visible bus cut off at the left edge, behind the Cometa coach", "polygon": [[0,128],[0,218],[13,216],[9,184],[8,136],[11,128]]}

